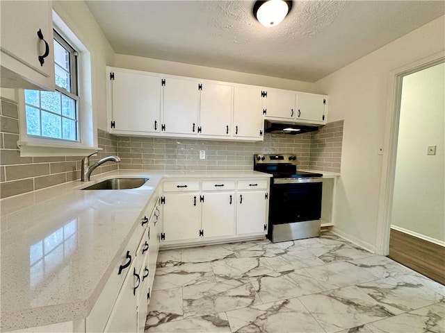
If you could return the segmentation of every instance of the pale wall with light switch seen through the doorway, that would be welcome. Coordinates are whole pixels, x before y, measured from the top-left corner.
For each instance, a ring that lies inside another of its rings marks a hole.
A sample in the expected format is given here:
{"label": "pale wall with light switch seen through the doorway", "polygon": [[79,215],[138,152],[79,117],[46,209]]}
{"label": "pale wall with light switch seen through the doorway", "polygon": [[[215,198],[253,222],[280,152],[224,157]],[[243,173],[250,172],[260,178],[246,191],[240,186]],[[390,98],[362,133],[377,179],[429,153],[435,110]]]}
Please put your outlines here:
{"label": "pale wall with light switch seen through the doorway", "polygon": [[445,244],[444,132],[442,63],[403,78],[391,224]]}

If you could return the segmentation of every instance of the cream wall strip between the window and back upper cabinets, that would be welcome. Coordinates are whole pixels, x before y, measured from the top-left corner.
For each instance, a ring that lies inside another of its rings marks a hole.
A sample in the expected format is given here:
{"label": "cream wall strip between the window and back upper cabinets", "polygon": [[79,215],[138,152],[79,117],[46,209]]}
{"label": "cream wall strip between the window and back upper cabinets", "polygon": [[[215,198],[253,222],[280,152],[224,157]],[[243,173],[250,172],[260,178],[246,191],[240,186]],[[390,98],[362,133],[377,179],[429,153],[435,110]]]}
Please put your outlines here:
{"label": "cream wall strip between the window and back upper cabinets", "polygon": [[106,65],[115,53],[83,1],[53,1],[53,9],[90,51],[92,110],[97,127],[106,130]]}

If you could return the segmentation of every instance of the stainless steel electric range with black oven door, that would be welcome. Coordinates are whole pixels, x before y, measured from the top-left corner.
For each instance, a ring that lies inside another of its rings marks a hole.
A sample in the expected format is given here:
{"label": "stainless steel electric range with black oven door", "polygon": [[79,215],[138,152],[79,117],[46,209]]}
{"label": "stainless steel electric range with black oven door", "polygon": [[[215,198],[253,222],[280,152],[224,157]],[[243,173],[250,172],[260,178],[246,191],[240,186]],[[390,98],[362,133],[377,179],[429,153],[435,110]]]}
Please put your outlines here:
{"label": "stainless steel electric range with black oven door", "polygon": [[268,239],[274,243],[318,237],[322,174],[297,170],[291,154],[256,154],[254,170],[272,173]]}

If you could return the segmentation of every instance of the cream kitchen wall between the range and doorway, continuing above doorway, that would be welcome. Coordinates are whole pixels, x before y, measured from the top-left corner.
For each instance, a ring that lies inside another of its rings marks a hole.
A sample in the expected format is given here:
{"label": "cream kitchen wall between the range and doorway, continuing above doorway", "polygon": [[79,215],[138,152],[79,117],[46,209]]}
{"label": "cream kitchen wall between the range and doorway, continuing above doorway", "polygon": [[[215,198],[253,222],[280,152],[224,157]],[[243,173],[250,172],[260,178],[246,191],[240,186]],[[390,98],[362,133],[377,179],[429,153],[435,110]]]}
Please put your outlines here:
{"label": "cream kitchen wall between the range and doorway, continuing above doorway", "polygon": [[371,250],[377,250],[378,244],[376,230],[383,157],[378,155],[378,148],[385,141],[390,74],[407,64],[444,52],[444,49],[445,16],[315,84],[316,91],[329,95],[329,121],[344,119],[334,230]]}

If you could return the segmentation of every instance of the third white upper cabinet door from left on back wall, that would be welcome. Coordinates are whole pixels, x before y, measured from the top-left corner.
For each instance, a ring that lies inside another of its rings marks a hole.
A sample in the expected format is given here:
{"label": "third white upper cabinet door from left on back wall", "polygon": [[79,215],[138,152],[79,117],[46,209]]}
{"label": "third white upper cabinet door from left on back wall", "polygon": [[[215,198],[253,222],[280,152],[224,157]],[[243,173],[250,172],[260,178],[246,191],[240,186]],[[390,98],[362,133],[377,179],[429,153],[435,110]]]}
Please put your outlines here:
{"label": "third white upper cabinet door from left on back wall", "polygon": [[233,87],[203,83],[200,99],[200,128],[204,135],[232,133]]}

